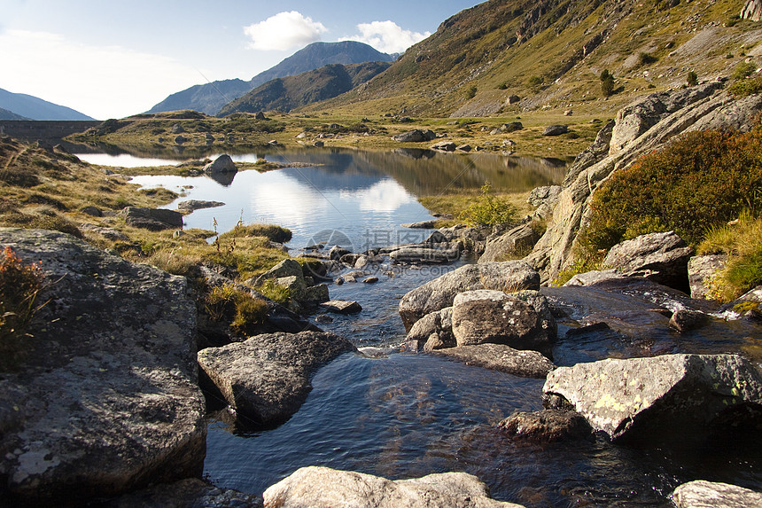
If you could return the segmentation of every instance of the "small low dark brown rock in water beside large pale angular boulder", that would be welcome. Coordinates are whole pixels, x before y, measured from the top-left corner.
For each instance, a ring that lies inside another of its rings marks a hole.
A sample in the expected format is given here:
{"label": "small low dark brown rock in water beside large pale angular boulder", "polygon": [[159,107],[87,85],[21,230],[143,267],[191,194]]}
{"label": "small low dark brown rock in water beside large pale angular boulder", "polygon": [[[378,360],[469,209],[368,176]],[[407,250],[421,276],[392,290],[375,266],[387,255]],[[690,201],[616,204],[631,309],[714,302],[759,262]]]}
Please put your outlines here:
{"label": "small low dark brown rock in water beside large pale angular boulder", "polygon": [[587,420],[572,410],[518,412],[502,420],[498,427],[515,439],[536,442],[584,439],[593,434]]}

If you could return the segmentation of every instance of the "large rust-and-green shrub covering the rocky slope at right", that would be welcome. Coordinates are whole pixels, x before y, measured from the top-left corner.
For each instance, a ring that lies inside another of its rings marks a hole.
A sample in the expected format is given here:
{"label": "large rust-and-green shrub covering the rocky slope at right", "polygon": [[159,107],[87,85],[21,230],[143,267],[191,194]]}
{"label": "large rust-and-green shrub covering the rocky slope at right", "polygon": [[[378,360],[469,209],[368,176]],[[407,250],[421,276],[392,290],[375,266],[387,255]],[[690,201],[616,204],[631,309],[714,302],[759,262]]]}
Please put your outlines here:
{"label": "large rust-and-green shrub covering the rocky slope at right", "polygon": [[744,208],[762,210],[762,128],[688,133],[612,175],[590,207],[579,237],[588,254],[654,231],[696,245]]}

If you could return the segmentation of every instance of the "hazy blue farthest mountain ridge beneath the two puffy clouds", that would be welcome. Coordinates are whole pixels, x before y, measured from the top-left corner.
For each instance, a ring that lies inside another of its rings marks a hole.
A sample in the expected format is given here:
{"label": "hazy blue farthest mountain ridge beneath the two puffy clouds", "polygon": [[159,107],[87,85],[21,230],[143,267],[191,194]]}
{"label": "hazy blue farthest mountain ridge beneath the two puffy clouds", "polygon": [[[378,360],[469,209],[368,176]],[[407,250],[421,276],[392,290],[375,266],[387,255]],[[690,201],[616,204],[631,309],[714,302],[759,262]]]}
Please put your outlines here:
{"label": "hazy blue farthest mountain ridge beneath the two puffy clouds", "polygon": [[146,113],[162,113],[181,109],[194,109],[214,115],[230,101],[243,96],[276,78],[301,74],[329,64],[362,64],[370,61],[392,62],[393,56],[377,51],[365,43],[312,43],[276,66],[255,75],[250,81],[239,79],[208,82],[176,92],[153,106]]}

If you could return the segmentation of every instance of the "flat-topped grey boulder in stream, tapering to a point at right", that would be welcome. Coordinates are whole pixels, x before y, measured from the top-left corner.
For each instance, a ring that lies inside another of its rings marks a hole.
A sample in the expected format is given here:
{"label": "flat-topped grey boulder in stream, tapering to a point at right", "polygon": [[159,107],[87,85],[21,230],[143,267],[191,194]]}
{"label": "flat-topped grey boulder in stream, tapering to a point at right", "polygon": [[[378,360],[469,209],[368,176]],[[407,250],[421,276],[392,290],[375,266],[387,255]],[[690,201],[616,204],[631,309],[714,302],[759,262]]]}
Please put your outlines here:
{"label": "flat-topped grey boulder in stream, tapering to a point at right", "polygon": [[202,349],[198,365],[237,411],[241,424],[273,426],[299,410],[315,371],[356,350],[349,340],[329,332],[266,333]]}

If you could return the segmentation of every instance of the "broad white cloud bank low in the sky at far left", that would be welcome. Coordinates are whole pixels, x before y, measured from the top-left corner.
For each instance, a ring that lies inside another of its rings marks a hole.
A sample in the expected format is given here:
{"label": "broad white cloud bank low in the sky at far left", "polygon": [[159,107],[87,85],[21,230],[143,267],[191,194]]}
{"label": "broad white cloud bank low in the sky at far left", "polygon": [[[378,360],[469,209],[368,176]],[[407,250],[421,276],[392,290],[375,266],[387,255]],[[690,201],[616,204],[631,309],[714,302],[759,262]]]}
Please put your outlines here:
{"label": "broad white cloud bank low in the sky at far left", "polygon": [[0,33],[0,88],[74,108],[98,120],[142,113],[201,81],[175,59],[121,46],[76,43],[46,32]]}

